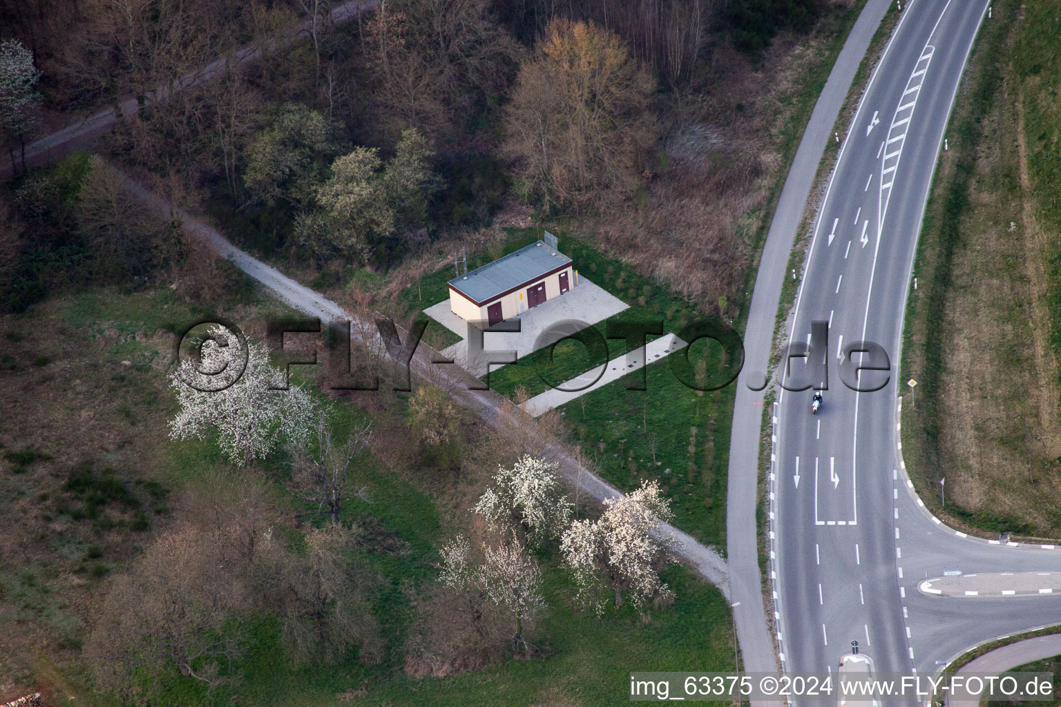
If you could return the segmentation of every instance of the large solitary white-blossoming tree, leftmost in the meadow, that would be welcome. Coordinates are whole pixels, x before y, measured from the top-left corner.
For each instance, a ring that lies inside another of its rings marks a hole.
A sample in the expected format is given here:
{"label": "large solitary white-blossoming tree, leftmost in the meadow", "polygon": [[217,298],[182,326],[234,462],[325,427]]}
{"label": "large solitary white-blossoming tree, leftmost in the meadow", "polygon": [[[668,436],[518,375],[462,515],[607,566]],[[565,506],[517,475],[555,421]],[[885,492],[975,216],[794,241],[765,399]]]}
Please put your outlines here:
{"label": "large solitary white-blossoming tree, leftmost in the meadow", "polygon": [[[222,453],[240,465],[265,457],[281,438],[305,444],[318,414],[309,393],[294,385],[288,390],[269,388],[282,379],[282,372],[269,364],[264,347],[247,343],[223,326],[210,333],[213,338],[204,341],[198,366],[185,359],[170,377],[180,404],[170,422],[170,437],[203,438],[216,430]],[[243,360],[246,366],[239,374]],[[224,376],[237,379],[219,390]]]}

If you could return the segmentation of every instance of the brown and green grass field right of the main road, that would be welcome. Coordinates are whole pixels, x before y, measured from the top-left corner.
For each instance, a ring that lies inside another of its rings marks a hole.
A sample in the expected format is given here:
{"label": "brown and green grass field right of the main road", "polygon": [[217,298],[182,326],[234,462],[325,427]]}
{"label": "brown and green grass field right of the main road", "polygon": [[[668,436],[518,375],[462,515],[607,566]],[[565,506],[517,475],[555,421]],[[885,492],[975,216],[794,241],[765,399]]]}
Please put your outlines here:
{"label": "brown and green grass field right of the main road", "polygon": [[903,446],[925,503],[955,527],[1057,537],[1058,20],[1048,2],[994,12],[1017,19],[980,30],[919,242]]}

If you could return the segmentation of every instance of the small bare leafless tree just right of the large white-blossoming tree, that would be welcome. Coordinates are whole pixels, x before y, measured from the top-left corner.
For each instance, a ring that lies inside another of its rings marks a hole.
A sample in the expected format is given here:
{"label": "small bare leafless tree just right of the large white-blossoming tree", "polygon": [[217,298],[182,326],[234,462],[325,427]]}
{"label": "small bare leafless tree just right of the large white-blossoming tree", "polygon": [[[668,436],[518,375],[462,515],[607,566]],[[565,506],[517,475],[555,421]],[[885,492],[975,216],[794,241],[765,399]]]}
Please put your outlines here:
{"label": "small bare leafless tree just right of the large white-blossoming tree", "polygon": [[294,473],[289,489],[305,501],[327,509],[333,526],[340,525],[343,506],[351,497],[366,499],[365,489],[349,487],[350,464],[366,454],[372,437],[370,422],[354,427],[346,442],[336,444],[331,425],[325,416],[317,422],[317,448],[313,453],[305,445],[292,446]]}

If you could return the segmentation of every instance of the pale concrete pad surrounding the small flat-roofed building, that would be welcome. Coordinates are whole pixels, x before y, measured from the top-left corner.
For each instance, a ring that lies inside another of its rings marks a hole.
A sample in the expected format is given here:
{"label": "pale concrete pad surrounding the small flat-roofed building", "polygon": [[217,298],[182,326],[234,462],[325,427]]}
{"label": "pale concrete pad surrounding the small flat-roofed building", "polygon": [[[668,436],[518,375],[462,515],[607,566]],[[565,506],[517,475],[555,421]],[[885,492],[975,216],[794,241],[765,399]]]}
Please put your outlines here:
{"label": "pale concrete pad surrounding the small flat-roofed building", "polygon": [[[506,320],[509,322],[519,320],[519,333],[489,330],[484,332],[483,348],[486,351],[515,351],[517,358],[522,358],[564,336],[619,314],[628,306],[621,299],[612,297],[579,275],[577,287]],[[449,300],[433,304],[423,312],[462,338],[459,342],[445,349],[441,352],[443,355],[452,358],[472,375],[482,376],[486,373],[486,365],[482,361],[471,364],[468,361],[468,347],[464,341],[468,335],[467,323],[450,311]],[[542,332],[559,322],[564,322],[567,325],[559,329],[555,336],[539,340],[538,337]],[[491,370],[498,368],[494,365]]]}

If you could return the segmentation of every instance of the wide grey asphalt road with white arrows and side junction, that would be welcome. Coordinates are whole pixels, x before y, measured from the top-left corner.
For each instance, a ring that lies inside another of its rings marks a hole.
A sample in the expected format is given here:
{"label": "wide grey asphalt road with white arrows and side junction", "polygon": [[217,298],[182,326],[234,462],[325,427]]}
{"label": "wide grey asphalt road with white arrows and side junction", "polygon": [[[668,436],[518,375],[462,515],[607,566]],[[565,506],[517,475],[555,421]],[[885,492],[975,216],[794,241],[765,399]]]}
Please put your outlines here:
{"label": "wide grey asphalt road with white arrows and side junction", "polygon": [[[771,487],[775,608],[789,672],[832,669],[852,640],[877,671],[935,671],[984,640],[1061,620],[1061,597],[918,590],[920,581],[947,572],[1057,571],[1061,550],[990,544],[945,528],[914,495],[898,447],[904,384],[897,376],[917,238],[988,4],[904,3],[819,212],[789,330],[789,340],[808,342],[811,352],[793,359],[787,383],[820,385],[828,363],[828,389],[817,416],[810,390],[781,393]],[[828,347],[810,340],[812,321],[829,323]],[[876,392],[840,381],[843,349],[855,341],[876,342],[890,358],[887,371],[860,377],[864,387],[887,379]]]}

